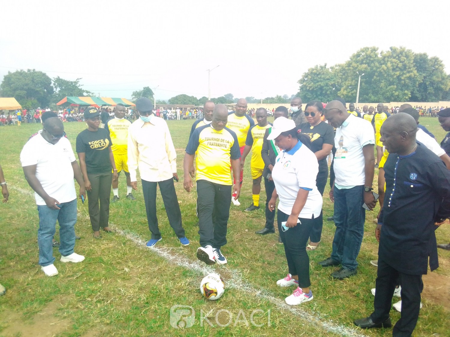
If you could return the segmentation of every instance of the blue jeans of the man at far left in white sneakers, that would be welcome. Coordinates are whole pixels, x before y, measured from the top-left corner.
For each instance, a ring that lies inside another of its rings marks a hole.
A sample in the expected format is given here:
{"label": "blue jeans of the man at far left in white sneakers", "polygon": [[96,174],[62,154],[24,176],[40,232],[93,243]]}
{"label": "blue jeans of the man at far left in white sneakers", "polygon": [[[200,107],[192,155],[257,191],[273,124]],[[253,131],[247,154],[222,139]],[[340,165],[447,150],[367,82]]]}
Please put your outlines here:
{"label": "blue jeans of the man at far left in white sneakers", "polygon": [[37,205],[39,213],[39,229],[37,244],[39,246],[39,264],[53,264],[52,239],[56,231],[56,220],[59,222],[59,253],[67,256],[75,247],[76,199],[58,205],[60,209],[51,209],[47,205]]}

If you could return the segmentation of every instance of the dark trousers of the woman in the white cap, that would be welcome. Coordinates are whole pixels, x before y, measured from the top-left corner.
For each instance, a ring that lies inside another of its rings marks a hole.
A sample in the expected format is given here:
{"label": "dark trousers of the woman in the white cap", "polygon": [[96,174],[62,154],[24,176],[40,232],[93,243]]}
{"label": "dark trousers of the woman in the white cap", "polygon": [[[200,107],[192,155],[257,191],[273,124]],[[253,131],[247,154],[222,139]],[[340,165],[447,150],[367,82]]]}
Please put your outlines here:
{"label": "dark trousers of the woman in the white cap", "polygon": [[284,243],[284,253],[288,261],[289,274],[298,275],[298,286],[307,288],[311,285],[309,277],[309,256],[306,253],[306,243],[311,233],[311,228],[317,219],[299,218],[301,224],[283,231],[281,222],[288,220],[289,215],[278,210],[278,231]]}

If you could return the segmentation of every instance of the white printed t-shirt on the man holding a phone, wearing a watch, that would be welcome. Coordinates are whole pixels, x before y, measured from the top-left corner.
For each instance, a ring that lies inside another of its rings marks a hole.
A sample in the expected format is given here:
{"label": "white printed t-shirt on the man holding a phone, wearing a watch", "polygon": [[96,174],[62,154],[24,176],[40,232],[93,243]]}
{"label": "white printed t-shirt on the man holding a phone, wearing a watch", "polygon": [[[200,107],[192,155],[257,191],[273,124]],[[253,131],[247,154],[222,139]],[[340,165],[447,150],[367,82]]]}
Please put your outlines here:
{"label": "white printed t-shirt on the man holding a phone, wearing a watch", "polygon": [[363,118],[349,115],[336,129],[334,146],[335,185],[360,186],[365,183],[363,146],[375,144],[374,127]]}

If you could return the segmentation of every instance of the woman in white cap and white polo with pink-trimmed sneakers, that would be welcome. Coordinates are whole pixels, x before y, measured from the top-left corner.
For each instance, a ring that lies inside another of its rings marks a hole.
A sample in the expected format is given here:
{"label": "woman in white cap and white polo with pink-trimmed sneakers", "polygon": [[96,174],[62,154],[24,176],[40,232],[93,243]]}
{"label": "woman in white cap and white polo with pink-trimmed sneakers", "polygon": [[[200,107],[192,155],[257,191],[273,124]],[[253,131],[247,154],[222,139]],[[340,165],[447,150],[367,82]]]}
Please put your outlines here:
{"label": "woman in white cap and white polo with pink-trimmed sneakers", "polygon": [[278,231],[289,268],[289,274],[277,284],[280,287],[296,286],[285,302],[299,305],[313,299],[306,244],[322,210],[322,196],[315,183],[319,164],[309,149],[309,137],[297,133],[293,120],[277,118],[267,139],[273,139],[275,145],[284,150],[279,152],[272,169],[275,190],[269,201],[269,210],[273,212],[279,197]]}

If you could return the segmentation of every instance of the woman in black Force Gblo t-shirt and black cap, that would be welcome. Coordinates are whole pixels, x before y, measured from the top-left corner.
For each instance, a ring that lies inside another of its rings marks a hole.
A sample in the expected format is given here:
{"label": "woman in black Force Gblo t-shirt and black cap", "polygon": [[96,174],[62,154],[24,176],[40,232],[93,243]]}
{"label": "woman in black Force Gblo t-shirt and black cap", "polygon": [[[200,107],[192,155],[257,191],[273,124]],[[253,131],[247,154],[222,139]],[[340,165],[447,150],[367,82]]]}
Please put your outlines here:
{"label": "woman in black Force Gblo t-shirt and black cap", "polygon": [[76,136],[76,152],[87,191],[90,223],[94,238],[99,239],[100,227],[103,231],[111,232],[108,226],[111,168],[114,181],[118,175],[111,138],[108,131],[99,128],[100,112],[90,106],[85,109],[84,117],[88,128]]}

